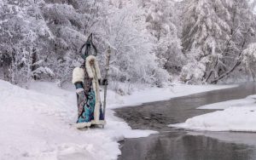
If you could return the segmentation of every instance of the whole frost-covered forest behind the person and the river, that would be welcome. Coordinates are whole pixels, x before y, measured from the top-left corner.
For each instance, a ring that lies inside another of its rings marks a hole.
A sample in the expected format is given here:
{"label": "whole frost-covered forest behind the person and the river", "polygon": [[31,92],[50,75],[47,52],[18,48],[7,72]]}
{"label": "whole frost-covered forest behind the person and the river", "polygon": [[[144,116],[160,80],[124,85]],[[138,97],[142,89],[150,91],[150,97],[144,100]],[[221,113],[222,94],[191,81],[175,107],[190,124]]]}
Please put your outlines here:
{"label": "whole frost-covered forest behind the person and the river", "polygon": [[109,87],[254,81],[256,1],[0,0],[0,78],[71,83],[90,33]]}

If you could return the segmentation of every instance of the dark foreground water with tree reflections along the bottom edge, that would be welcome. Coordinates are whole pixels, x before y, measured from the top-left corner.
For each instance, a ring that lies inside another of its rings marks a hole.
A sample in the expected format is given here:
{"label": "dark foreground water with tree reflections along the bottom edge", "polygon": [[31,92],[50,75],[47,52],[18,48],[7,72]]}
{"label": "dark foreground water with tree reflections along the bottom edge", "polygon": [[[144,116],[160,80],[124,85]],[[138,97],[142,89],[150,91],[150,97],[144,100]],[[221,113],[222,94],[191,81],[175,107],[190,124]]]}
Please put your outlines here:
{"label": "dark foreground water with tree reflections along the bottom edge", "polygon": [[[253,139],[255,140],[255,139]],[[255,146],[214,139],[204,135],[170,132],[125,140],[119,160],[253,160]]]}

